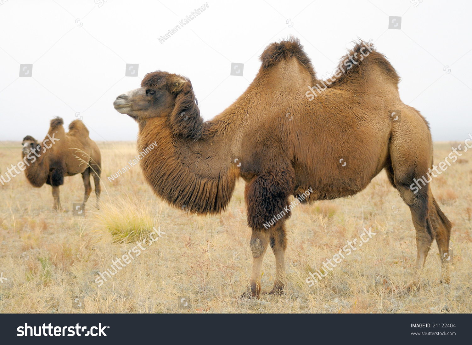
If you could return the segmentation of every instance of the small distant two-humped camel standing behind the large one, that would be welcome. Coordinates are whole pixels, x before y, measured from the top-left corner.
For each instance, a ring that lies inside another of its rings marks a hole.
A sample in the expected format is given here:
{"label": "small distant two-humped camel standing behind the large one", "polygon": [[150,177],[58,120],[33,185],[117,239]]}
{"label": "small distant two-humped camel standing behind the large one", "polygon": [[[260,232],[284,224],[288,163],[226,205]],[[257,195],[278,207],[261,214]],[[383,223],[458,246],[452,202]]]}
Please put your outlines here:
{"label": "small distant two-humped camel standing behind the large one", "polygon": [[[61,209],[59,186],[64,184],[65,176],[82,174],[85,186],[84,202],[92,192],[90,175],[95,182],[97,208],[100,199],[101,155],[97,144],[89,138],[89,131],[80,120],[72,121],[69,132],[64,131],[62,118],[51,120],[48,135],[42,143],[32,136],[23,139],[22,156],[26,164],[25,175],[34,187],[45,183],[52,186],[53,208]],[[49,143],[48,143],[49,142]]]}

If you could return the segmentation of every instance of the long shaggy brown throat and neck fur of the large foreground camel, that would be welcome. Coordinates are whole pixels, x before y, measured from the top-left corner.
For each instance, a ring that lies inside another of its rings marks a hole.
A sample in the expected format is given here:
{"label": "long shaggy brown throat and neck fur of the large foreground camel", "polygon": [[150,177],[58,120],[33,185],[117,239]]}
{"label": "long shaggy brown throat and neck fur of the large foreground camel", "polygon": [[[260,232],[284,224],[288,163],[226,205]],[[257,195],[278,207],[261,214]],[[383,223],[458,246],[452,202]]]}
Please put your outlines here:
{"label": "long shaggy brown throat and neck fur of the large foreground camel", "polygon": [[168,119],[149,118],[139,123],[139,151],[153,142],[157,147],[140,164],[156,194],[190,213],[215,214],[226,208],[237,176],[228,141],[184,138],[173,133]]}

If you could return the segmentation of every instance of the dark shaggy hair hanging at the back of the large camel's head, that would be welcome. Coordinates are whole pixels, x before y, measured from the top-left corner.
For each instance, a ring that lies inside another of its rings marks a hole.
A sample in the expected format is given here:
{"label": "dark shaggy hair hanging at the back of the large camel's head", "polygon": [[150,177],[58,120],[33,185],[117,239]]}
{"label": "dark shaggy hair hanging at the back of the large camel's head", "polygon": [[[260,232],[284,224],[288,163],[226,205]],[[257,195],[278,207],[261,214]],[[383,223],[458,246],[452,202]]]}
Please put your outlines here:
{"label": "dark shaggy hair hanging at the back of the large camel's head", "polygon": [[192,84],[186,80],[176,82],[177,97],[170,123],[174,134],[198,139],[202,136],[203,120],[200,117]]}

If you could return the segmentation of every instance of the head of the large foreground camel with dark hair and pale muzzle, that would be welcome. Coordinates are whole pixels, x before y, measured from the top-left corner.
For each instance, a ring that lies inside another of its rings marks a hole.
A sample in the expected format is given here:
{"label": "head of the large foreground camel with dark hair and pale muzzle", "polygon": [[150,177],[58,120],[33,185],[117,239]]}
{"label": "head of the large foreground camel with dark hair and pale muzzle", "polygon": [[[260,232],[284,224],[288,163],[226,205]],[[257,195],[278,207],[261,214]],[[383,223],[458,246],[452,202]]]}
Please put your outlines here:
{"label": "head of the large foreground camel with dark hair and pale muzzle", "polygon": [[202,118],[190,80],[177,74],[148,73],[141,87],[117,97],[113,106],[142,124],[149,118],[169,118],[176,135],[198,138]]}

